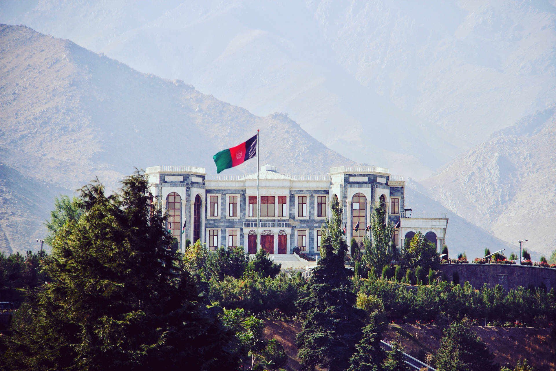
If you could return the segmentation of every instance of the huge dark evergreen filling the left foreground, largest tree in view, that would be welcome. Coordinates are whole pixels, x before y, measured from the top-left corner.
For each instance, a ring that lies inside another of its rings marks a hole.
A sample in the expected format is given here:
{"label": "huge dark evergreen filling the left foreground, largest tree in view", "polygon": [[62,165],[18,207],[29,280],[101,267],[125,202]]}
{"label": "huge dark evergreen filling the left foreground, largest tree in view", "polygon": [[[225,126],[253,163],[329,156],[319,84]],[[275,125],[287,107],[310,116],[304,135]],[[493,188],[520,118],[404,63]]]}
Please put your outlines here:
{"label": "huge dark evergreen filling the left foreground, largest tree in view", "polygon": [[161,212],[149,217],[147,193],[144,174],[120,194],[98,180],[81,189],[83,214],[54,234],[52,281],[14,316],[0,368],[237,369],[232,333],[171,250]]}

